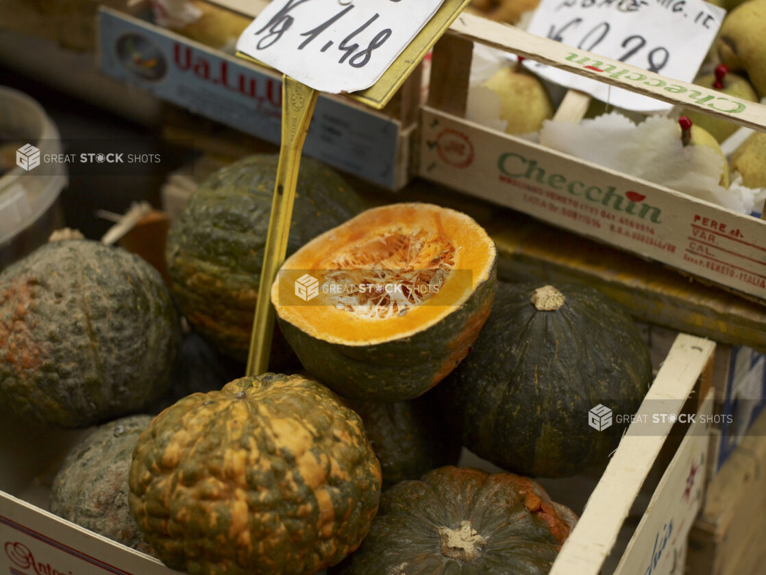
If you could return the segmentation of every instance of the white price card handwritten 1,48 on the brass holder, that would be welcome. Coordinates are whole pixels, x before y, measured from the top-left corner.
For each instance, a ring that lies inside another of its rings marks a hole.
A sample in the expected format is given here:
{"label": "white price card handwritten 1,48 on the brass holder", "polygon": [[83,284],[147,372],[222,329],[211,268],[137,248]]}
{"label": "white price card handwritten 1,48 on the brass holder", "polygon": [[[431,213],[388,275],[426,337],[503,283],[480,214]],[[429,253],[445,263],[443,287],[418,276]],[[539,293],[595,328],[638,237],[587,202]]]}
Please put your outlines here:
{"label": "white price card handwritten 1,48 on the brass holder", "polygon": [[375,84],[444,0],[273,0],[241,51],[322,92]]}

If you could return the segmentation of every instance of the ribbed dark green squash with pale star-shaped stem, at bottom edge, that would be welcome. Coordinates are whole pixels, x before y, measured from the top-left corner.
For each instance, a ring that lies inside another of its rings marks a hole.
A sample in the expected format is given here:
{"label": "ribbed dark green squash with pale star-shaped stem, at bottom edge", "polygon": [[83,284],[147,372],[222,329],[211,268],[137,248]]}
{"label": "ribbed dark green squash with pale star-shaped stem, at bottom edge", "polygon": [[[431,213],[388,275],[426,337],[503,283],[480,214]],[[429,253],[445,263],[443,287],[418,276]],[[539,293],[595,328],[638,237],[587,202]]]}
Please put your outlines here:
{"label": "ribbed dark green squash with pale star-shaped stem, at bottom edge", "polygon": [[545,575],[577,521],[529,478],[447,466],[385,491],[331,575]]}

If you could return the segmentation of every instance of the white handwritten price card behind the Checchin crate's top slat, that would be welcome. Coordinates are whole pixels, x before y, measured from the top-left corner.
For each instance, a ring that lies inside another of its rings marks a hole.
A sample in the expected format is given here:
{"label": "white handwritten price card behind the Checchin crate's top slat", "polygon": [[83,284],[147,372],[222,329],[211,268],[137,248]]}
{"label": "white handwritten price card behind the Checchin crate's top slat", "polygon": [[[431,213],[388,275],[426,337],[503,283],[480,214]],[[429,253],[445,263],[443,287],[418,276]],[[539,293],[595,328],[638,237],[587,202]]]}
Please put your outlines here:
{"label": "white handwritten price card behind the Checchin crate's top slat", "polygon": [[[588,51],[691,82],[725,13],[704,0],[542,0],[527,30],[573,47],[572,54]],[[578,59],[576,55],[571,58]],[[582,90],[616,107],[637,112],[671,107],[554,67],[531,61],[525,65],[556,84]],[[628,74],[609,68],[608,74]]]}

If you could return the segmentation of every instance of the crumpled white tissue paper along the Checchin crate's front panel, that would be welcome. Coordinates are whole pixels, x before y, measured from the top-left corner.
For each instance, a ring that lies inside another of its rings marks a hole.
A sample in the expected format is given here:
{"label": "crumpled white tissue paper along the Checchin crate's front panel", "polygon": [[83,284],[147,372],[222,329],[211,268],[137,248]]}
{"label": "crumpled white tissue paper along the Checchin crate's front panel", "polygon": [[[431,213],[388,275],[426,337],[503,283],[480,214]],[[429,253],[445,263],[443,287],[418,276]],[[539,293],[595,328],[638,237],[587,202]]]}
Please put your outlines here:
{"label": "crumpled white tissue paper along the Checchin crate's front panel", "polygon": [[635,124],[620,113],[608,113],[578,125],[546,120],[540,143],[737,212],[760,209],[756,197],[761,190],[736,182],[729,189],[720,186],[722,157],[708,146],[683,146],[673,118],[652,116]]}

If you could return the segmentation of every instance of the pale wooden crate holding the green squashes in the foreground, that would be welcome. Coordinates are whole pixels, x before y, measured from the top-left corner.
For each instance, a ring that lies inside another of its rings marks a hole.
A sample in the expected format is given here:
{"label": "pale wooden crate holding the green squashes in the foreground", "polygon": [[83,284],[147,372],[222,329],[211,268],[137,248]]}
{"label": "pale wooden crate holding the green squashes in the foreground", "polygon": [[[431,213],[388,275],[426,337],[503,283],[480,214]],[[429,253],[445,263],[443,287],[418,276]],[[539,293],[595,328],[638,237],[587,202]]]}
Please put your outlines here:
{"label": "pale wooden crate holding the green squashes in the foreground", "polygon": [[[624,435],[611,461],[593,478],[584,496],[572,499],[567,485],[585,484],[589,478],[558,480],[558,500],[584,510],[571,536],[561,548],[552,575],[597,575],[612,552],[614,573],[671,573],[686,550],[686,533],[699,511],[704,485],[708,437],[701,416],[709,413],[705,378],[712,369],[715,344],[679,335],[637,415],[651,416],[658,403],[667,413],[696,414],[686,435],[673,432],[667,422],[653,435]],[[691,400],[688,398],[692,396]],[[583,414],[587,417],[588,414]],[[633,424],[635,425],[635,424]],[[8,573],[77,573],[96,575],[169,575],[159,561],[100,537],[46,511],[48,485],[67,449],[83,431],[44,429],[0,418],[4,437],[0,446],[0,571]],[[663,449],[666,451],[661,455]],[[691,470],[702,466],[699,471]],[[659,481],[652,481],[652,475]],[[642,505],[637,525],[626,523],[642,490],[650,501]],[[587,501],[587,504],[584,504]],[[672,524],[672,528],[670,527]],[[625,545],[616,547],[620,531]],[[671,534],[671,537],[666,537]],[[660,542],[660,547],[658,547]]]}

